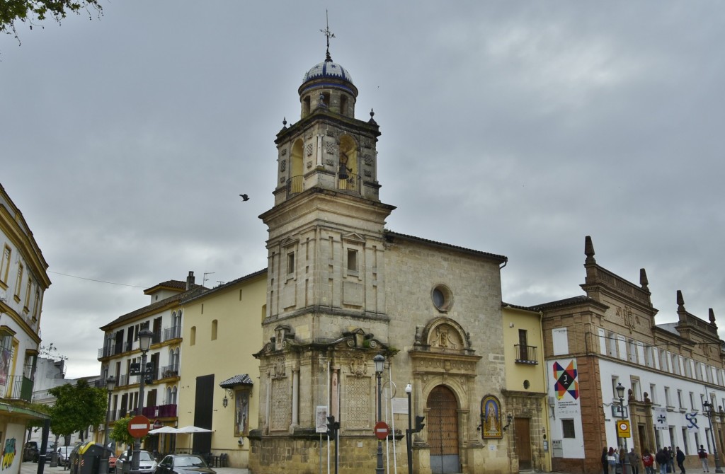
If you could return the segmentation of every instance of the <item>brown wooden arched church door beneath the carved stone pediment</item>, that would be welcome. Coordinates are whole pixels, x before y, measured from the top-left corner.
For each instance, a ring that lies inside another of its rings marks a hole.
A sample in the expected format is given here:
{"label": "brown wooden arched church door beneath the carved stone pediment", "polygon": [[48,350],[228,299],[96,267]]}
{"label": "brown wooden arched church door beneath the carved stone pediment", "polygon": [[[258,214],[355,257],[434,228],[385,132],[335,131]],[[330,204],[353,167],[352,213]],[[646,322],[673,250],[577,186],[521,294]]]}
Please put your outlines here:
{"label": "brown wooden arched church door beneath the carved stone pediment", "polygon": [[439,385],[428,395],[428,446],[433,474],[460,472],[458,402],[450,388]]}

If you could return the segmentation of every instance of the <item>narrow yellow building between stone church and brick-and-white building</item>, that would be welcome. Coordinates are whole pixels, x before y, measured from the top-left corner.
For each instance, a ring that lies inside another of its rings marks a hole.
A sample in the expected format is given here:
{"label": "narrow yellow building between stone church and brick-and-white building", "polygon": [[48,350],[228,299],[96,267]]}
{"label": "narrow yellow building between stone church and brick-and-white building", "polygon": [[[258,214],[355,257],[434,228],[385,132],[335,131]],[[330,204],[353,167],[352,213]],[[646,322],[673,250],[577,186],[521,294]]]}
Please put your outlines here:
{"label": "narrow yellow building between stone church and brick-and-white building", "polygon": [[[512,471],[551,470],[541,314],[503,304],[506,397]],[[510,417],[510,418],[509,418]]]}

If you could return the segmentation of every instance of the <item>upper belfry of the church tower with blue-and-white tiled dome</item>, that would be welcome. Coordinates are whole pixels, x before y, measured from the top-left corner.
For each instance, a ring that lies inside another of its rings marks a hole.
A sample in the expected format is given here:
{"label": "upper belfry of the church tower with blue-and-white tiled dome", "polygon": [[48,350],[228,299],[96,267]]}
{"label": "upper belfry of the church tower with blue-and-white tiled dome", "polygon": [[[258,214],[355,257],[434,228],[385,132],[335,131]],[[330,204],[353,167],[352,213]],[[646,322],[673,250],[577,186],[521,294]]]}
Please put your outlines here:
{"label": "upper belfry of the church tower with blue-and-white tiled dome", "polygon": [[278,182],[275,205],[311,188],[344,192],[379,201],[373,120],[355,118],[357,87],[334,62],[328,49],[323,62],[305,73],[299,86],[300,120],[277,134]]}

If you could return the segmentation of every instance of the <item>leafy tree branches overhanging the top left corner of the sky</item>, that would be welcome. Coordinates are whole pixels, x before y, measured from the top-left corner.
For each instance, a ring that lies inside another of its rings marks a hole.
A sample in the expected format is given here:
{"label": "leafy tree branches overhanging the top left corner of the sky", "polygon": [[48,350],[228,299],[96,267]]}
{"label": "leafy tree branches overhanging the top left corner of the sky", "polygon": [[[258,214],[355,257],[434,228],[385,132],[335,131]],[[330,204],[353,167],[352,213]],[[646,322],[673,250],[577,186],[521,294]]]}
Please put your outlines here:
{"label": "leafy tree branches overhanging the top left corner of the sky", "polygon": [[[33,25],[48,17],[60,23],[67,14],[95,10],[99,15],[102,7],[99,0],[0,0],[0,33],[7,33],[17,39],[17,22]],[[43,28],[41,26],[41,28]]]}

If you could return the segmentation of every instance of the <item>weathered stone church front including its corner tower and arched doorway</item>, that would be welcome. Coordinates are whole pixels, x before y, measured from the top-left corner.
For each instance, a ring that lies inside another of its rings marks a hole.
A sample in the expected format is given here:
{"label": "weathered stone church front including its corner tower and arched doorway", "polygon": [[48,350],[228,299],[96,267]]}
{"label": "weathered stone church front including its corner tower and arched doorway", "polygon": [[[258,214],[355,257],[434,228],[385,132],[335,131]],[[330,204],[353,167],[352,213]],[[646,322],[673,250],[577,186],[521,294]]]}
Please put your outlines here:
{"label": "weathered stone church front including its corner tower and arched doorway", "polygon": [[[328,52],[298,92],[301,118],[276,138],[275,204],[260,216],[269,230],[268,295],[249,467],[318,473],[328,444],[320,420],[334,415],[339,471],[374,469],[373,357],[382,354],[382,411],[396,428],[386,452],[395,444],[399,469],[408,415],[391,415],[388,402],[405,400],[410,383],[410,416],[426,417],[413,438],[416,473],[509,473],[506,257],[386,230],[394,207],[378,195],[380,131],[372,111],[369,120],[355,118],[349,72]],[[485,425],[484,399],[492,413]],[[391,465],[392,457],[390,449]]]}

